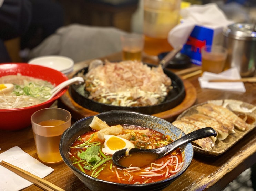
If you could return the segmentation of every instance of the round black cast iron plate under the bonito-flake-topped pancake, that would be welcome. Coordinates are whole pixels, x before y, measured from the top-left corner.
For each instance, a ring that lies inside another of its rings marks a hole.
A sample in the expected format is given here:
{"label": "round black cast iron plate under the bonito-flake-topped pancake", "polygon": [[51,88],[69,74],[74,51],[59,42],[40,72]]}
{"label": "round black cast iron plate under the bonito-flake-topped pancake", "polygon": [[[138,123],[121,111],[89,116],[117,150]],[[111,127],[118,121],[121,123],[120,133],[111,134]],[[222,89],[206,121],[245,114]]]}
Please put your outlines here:
{"label": "round black cast iron plate under the bonito-flake-topped pancake", "polygon": [[[149,65],[150,67],[155,67],[155,65],[152,64],[147,65]],[[83,74],[86,74],[88,72],[88,67],[79,70],[73,77],[77,76],[77,74],[81,72],[83,72]],[[85,91],[83,84],[71,85],[69,87],[69,93],[76,103],[78,103],[84,108],[99,113],[111,110],[129,110],[141,112],[143,114],[156,114],[176,107],[185,98],[185,88],[180,77],[178,77],[173,72],[167,69],[164,69],[164,73],[172,80],[173,89],[168,93],[168,95],[166,96],[166,100],[164,102],[153,106],[122,107],[96,102],[88,98],[89,92]]]}

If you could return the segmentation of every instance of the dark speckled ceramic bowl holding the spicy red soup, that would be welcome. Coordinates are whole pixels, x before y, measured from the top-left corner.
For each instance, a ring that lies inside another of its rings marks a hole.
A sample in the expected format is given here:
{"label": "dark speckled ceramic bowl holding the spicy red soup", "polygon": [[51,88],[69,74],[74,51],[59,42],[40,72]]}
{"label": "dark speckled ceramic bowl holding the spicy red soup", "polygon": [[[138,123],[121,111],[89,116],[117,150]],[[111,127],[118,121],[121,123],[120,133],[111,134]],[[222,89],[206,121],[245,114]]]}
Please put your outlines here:
{"label": "dark speckled ceramic bowl holding the spicy red soup", "polygon": [[[109,126],[116,125],[116,124],[130,124],[136,126],[142,126],[157,130],[163,134],[168,134],[171,136],[172,140],[176,140],[181,130],[177,127],[173,126],[168,121],[157,118],[151,115],[141,114],[133,111],[109,111],[104,112],[97,115]],[[177,177],[181,176],[183,172],[188,168],[190,165],[192,158],[193,158],[193,148],[191,143],[188,143],[185,146],[180,147],[183,157],[183,167],[182,169],[175,175],[171,176],[162,181],[148,183],[148,184],[120,184],[114,182],[108,182],[104,180],[100,180],[85,173],[81,172],[77,168],[75,168],[68,157],[69,147],[78,138],[81,134],[90,131],[91,128],[89,124],[91,123],[93,116],[86,117],[76,121],[70,128],[68,128],[62,135],[60,140],[60,153],[61,156],[68,165],[73,173],[92,191],[113,191],[113,190],[120,190],[120,191],[141,191],[141,190],[162,190],[168,185],[170,185]],[[184,133],[183,133],[184,134]]]}

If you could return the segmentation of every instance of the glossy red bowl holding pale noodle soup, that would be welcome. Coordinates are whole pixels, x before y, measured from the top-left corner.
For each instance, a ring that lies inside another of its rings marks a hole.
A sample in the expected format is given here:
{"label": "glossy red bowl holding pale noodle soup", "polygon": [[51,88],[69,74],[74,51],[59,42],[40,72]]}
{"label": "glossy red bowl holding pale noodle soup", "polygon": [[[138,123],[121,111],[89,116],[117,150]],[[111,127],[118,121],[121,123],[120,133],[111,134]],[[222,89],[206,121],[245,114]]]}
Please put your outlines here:
{"label": "glossy red bowl holding pale noodle soup", "polygon": [[[48,67],[43,67],[40,65],[32,65],[32,64],[26,64],[26,63],[0,64],[0,77],[6,76],[6,75],[16,75],[17,73],[20,73],[21,75],[26,75],[26,76],[47,80],[55,85],[58,85],[68,80],[68,77],[66,77],[64,74],[62,74],[58,70],[54,70]],[[1,109],[0,108],[0,129],[14,131],[19,129],[24,129],[30,126],[31,115],[35,111],[50,107],[55,100],[57,100],[66,92],[66,90],[67,88],[63,89],[63,91],[61,91],[57,96],[38,105],[17,108],[17,109]]]}

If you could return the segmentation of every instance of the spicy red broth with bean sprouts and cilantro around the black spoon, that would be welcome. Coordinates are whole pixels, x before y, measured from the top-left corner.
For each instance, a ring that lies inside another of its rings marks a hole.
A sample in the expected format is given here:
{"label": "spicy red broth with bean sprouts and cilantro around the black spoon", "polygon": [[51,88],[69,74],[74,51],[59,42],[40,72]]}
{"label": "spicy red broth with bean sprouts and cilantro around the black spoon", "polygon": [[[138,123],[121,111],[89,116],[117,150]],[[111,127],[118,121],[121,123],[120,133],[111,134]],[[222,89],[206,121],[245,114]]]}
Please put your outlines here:
{"label": "spicy red broth with bean sprouts and cilantro around the black spoon", "polygon": [[[122,126],[131,133],[129,141],[135,148],[160,148],[172,142],[170,136],[153,129]],[[137,130],[149,130],[150,134],[141,134]],[[152,183],[176,174],[183,166],[181,151],[177,149],[143,168],[134,165],[126,169],[118,168],[113,165],[112,155],[102,152],[104,142],[95,138],[95,133],[96,131],[92,130],[82,134],[74,141],[69,151],[73,165],[92,177],[123,184]],[[95,155],[92,154],[93,151]]]}

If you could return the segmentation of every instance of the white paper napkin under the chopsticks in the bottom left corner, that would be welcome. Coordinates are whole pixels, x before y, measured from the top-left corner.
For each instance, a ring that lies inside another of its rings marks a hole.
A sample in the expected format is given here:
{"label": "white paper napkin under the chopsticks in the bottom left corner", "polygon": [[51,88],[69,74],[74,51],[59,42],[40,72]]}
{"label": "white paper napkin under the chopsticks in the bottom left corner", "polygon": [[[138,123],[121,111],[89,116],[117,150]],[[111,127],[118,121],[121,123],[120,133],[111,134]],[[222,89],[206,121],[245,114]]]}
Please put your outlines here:
{"label": "white paper napkin under the chopsticks in the bottom left corner", "polygon": [[[44,178],[51,172],[53,168],[41,163],[39,160],[33,158],[28,153],[21,150],[20,147],[15,146],[0,154],[0,161],[6,161],[23,170],[26,170],[40,178]],[[33,183],[20,177],[7,168],[0,166],[0,190],[1,191],[18,191],[26,188]]]}

